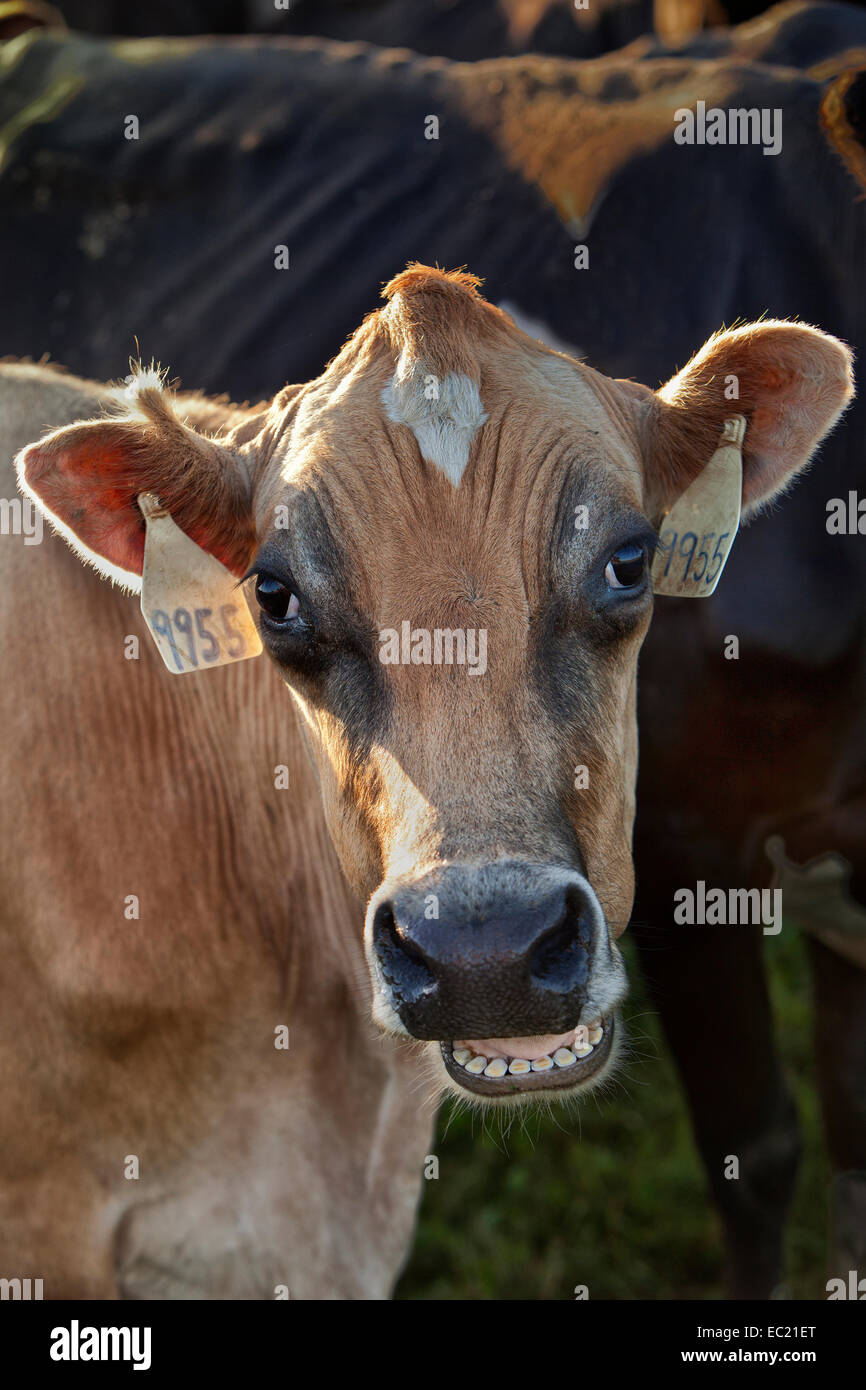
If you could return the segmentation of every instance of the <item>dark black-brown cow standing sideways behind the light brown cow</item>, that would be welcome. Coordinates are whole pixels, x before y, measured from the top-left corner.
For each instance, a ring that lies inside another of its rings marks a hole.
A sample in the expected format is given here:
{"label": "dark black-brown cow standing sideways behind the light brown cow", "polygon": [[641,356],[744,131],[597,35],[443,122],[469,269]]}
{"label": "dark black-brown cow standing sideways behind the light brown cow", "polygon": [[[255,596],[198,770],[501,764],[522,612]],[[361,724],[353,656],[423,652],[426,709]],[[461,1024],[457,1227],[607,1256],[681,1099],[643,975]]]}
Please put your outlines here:
{"label": "dark black-brown cow standing sideways behind the light brown cow", "polygon": [[[471,263],[488,297],[613,375],[659,381],[720,322],[763,313],[862,353],[866,19],[798,6],[746,29],[724,51],[696,40],[698,58],[474,68],[304,40],[142,56],[18,39],[0,245],[15,264],[26,246],[39,274],[10,296],[1,348],[106,378],[138,335],[186,384],[259,398],[320,370],[378,282],[420,257]],[[674,113],[699,100],[780,110],[781,150],[678,145]],[[862,537],[826,527],[827,502],[862,486],[865,416],[855,404],[771,528],[744,532],[712,603],[659,600],[641,664],[635,916],[741,1293],[777,1279],[796,1127],[760,933],[684,931],[673,901],[699,880],[780,876],[791,922],[816,933],[833,1162],[866,1169],[866,974],[834,949],[844,927],[858,954],[866,901],[866,562]],[[840,1211],[856,1212],[860,1183],[844,1180]],[[862,1226],[840,1238],[840,1261],[863,1258]]]}

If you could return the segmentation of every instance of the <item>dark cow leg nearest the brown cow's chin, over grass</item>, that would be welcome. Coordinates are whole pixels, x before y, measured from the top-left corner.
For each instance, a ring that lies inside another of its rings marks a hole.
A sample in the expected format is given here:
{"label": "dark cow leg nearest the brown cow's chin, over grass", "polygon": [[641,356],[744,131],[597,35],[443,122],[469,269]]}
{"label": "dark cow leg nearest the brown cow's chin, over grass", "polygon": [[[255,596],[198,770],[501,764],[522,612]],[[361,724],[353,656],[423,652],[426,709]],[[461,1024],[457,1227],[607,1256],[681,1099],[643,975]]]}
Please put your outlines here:
{"label": "dark cow leg nearest the brown cow's chin, over grass", "polygon": [[767,1298],[781,1277],[799,1134],[773,1044],[760,935],[706,926],[635,935],[721,1215],[726,1287]]}

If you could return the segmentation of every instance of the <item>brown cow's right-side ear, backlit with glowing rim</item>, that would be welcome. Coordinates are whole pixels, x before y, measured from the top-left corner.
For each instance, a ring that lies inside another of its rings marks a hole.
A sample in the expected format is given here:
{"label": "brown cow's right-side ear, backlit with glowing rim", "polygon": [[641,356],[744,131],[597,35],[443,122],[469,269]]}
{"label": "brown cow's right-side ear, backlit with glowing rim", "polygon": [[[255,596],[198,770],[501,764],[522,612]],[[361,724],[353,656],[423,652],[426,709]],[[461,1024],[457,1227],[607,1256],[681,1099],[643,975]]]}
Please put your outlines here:
{"label": "brown cow's right-side ear, backlit with glowing rim", "polygon": [[660,517],[745,416],[742,516],[784,491],[853,396],[852,354],[805,324],[765,321],[717,334],[655,395],[646,512]]}

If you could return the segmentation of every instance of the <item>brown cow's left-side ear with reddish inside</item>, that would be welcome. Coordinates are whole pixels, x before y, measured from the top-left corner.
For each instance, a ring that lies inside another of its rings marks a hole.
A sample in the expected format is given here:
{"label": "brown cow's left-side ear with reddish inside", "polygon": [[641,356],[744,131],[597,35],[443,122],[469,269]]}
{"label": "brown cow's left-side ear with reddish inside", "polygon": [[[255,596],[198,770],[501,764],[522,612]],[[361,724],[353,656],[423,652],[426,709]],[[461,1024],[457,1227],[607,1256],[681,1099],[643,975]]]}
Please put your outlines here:
{"label": "brown cow's left-side ear with reddish inside", "polygon": [[158,379],[139,378],[131,396],[124,393],[122,414],[56,430],[15,460],[21,488],[72,549],[135,592],[145,557],[142,492],[156,493],[181,530],[234,574],[249,566],[252,455],[239,441],[250,436],[252,413],[197,404],[209,430],[235,428],[218,436],[193,430]]}

